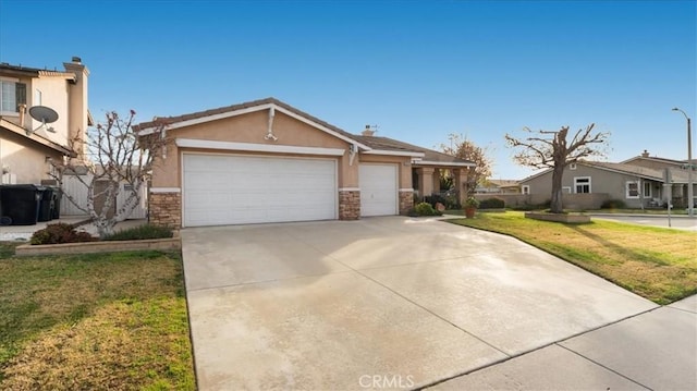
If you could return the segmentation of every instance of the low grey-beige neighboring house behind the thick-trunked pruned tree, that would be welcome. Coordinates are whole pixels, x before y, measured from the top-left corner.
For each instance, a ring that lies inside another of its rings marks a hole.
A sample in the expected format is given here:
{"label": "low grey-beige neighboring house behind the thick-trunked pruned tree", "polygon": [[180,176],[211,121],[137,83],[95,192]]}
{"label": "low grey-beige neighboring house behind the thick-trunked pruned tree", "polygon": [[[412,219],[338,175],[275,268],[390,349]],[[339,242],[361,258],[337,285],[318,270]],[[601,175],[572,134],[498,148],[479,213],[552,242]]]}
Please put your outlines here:
{"label": "low grey-beige neighboring house behind the thick-trunked pruned tree", "polygon": [[[632,160],[632,159],[631,159]],[[604,197],[589,198],[598,205],[604,199],[621,199],[627,207],[658,207],[669,198],[676,206],[686,205],[687,171],[671,169],[672,181],[664,186],[662,169],[646,168],[633,163],[578,161],[564,170],[562,190],[565,194],[596,194]],[[521,181],[523,194],[549,195],[552,170],[546,170]]]}

